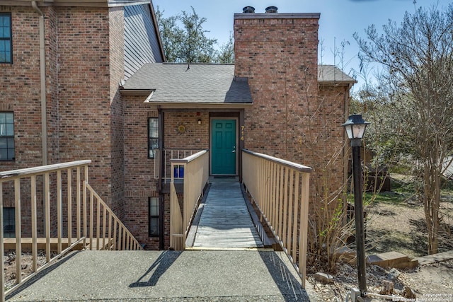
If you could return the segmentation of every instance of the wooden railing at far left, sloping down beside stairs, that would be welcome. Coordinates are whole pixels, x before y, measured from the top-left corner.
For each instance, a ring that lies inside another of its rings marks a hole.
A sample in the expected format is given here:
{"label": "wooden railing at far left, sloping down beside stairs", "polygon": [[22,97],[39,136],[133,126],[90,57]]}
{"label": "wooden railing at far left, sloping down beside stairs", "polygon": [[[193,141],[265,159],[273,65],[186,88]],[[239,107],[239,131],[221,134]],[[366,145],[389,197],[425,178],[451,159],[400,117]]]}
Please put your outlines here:
{"label": "wooden railing at far left, sloping down beside stairs", "polygon": [[[3,261],[4,228],[0,228],[1,301],[17,286],[74,248],[142,249],[113,211],[88,185],[89,163],[91,161],[74,161],[0,172],[0,217],[3,217],[5,204],[13,206],[16,223],[16,285],[8,291],[5,291]],[[31,242],[32,274],[23,278],[22,245],[28,241]],[[44,243],[46,257],[45,265],[40,267],[38,242]],[[56,248],[52,249],[56,255],[51,254],[51,243],[54,242]]]}

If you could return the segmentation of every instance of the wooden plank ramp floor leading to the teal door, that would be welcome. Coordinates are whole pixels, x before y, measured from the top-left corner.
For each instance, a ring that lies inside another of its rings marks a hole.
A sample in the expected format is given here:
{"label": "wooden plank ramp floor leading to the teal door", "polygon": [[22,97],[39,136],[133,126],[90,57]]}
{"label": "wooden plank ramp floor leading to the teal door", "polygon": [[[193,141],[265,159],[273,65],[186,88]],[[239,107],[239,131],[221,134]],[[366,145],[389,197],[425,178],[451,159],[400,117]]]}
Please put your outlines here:
{"label": "wooden plank ramp floor leading to the teal door", "polygon": [[193,249],[263,248],[235,178],[212,178]]}

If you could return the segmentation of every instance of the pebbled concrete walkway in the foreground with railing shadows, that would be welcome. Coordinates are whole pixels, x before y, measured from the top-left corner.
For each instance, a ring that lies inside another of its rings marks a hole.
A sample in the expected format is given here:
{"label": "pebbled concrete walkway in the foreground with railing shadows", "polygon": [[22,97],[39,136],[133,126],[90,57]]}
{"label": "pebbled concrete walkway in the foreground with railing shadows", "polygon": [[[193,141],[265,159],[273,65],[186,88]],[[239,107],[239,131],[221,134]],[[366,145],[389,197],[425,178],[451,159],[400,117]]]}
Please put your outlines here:
{"label": "pebbled concrete walkway in the foreground with railing shadows", "polygon": [[269,251],[81,251],[7,301],[310,301]]}

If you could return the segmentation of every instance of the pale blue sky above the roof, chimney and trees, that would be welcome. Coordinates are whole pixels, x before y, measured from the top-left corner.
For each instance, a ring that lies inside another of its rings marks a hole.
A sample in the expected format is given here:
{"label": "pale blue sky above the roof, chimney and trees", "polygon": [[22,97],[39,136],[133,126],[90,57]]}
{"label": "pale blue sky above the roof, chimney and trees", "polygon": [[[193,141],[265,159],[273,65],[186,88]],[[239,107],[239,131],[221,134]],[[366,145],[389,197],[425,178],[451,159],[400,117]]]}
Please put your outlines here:
{"label": "pale blue sky above the roof, chimney and trees", "polygon": [[[264,13],[268,6],[277,6],[279,13],[321,13],[319,40],[323,51],[321,56],[320,47],[319,62],[337,66],[343,63],[343,71],[351,76],[353,71],[360,71],[354,33],[366,37],[365,29],[372,24],[382,33],[382,25],[389,19],[400,24],[406,11],[414,13],[420,6],[445,8],[450,3],[448,0],[417,0],[415,4],[413,0],[153,0],[154,8],[159,6],[166,18],[181,11],[191,12],[193,6],[200,18],[207,19],[203,25],[209,31],[207,37],[216,38],[219,45],[228,41],[233,32],[234,13],[242,13],[244,6],[253,6],[256,13]],[[342,42],[346,43],[344,59],[333,55]],[[355,90],[365,83],[360,77],[357,81]]]}

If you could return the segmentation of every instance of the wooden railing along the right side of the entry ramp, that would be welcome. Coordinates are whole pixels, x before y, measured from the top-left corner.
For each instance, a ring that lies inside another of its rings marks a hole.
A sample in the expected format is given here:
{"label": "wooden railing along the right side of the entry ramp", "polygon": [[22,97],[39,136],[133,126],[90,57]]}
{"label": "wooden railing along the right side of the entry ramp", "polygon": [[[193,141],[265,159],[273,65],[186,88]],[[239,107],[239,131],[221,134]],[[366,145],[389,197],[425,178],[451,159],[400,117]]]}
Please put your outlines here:
{"label": "wooden railing along the right side of the entry ramp", "polygon": [[243,184],[305,288],[311,168],[243,150]]}

